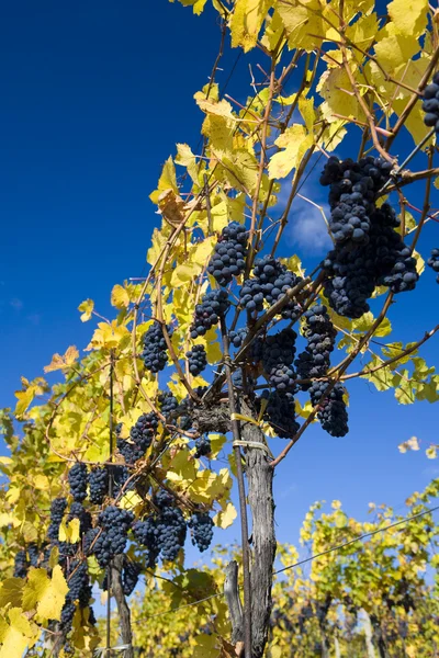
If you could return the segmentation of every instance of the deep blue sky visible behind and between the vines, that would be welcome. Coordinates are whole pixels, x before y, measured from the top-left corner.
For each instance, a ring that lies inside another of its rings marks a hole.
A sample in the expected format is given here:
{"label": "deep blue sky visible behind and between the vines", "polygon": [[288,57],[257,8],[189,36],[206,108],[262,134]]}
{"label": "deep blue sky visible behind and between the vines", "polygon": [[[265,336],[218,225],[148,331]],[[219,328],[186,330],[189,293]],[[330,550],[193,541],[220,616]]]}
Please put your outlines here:
{"label": "deep blue sky visible behind and between the vines", "polygon": [[[196,148],[202,115],[193,93],[207,82],[216,56],[216,15],[194,18],[166,0],[148,7],[139,0],[79,0],[75,8],[26,0],[2,8],[1,406],[14,404],[20,375],[35,377],[54,352],[88,343],[91,326],[77,311],[82,299],[110,313],[113,284],[140,274],[157,224],[148,195],[161,164],[177,141]],[[219,83],[236,56],[225,55]],[[241,101],[251,93],[244,58],[229,92]],[[401,154],[404,144],[395,149]],[[322,192],[315,190],[318,202]],[[306,194],[313,194],[311,183]],[[284,251],[299,247],[305,264],[314,264],[325,245],[316,246],[302,207]],[[439,227],[429,226],[424,256],[438,243]],[[431,328],[437,299],[427,272],[417,292],[401,295],[392,309],[395,339],[417,340]],[[423,355],[435,363],[435,352],[437,362],[437,340]],[[312,427],[280,465],[279,540],[296,540],[317,499],[340,499],[348,513],[364,517],[369,501],[401,506],[439,474],[423,452],[397,451],[413,434],[423,447],[438,441],[435,407],[402,407],[392,393],[356,381],[349,412],[348,436],[333,439]],[[235,536],[237,529],[216,533],[217,541]]]}

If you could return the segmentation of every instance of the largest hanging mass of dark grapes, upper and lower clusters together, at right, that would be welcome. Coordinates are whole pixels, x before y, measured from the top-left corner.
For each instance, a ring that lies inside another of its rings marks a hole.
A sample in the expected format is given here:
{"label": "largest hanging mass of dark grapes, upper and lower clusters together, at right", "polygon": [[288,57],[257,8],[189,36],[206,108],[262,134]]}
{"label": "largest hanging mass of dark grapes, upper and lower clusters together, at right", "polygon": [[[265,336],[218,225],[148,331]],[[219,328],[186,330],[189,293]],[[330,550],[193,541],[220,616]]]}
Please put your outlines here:
{"label": "largest hanging mass of dark grapes, upper and lower clusters together, at right", "polygon": [[[320,177],[323,185],[330,185],[329,202],[333,196],[338,196],[345,181],[369,181],[368,227],[364,224],[364,227],[360,227],[363,235],[357,234],[361,238],[360,243],[353,245],[353,240],[352,245],[347,242],[350,229],[342,227],[353,226],[352,208],[341,201],[340,195],[337,222],[330,225],[339,240],[336,239],[335,249],[329,251],[322,263],[325,296],[338,315],[348,318],[360,318],[369,310],[368,299],[378,285],[387,286],[396,294],[412,291],[419,279],[416,260],[395,230],[399,223],[393,208],[389,204],[383,204],[381,208],[374,206],[376,194],[389,180],[390,171],[389,162],[371,156],[362,158],[358,163],[352,160],[340,162],[331,157]],[[357,200],[358,193],[354,194]],[[344,215],[342,219],[340,214]],[[353,224],[357,224],[357,215]]]}

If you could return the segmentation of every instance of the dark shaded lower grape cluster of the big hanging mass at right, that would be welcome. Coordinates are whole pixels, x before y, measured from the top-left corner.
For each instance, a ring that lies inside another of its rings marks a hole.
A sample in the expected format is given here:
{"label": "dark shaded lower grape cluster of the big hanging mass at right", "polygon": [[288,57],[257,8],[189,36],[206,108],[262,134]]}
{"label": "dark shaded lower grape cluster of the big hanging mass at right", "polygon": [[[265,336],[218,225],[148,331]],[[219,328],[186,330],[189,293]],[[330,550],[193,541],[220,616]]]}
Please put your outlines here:
{"label": "dark shaded lower grape cluster of the big hanging mass at right", "polygon": [[360,318],[369,310],[368,299],[375,286],[401,293],[413,290],[419,279],[409,248],[394,230],[398,219],[392,207],[383,204],[370,218],[368,245],[354,249],[338,246],[323,262],[325,296],[336,313],[349,318]]}

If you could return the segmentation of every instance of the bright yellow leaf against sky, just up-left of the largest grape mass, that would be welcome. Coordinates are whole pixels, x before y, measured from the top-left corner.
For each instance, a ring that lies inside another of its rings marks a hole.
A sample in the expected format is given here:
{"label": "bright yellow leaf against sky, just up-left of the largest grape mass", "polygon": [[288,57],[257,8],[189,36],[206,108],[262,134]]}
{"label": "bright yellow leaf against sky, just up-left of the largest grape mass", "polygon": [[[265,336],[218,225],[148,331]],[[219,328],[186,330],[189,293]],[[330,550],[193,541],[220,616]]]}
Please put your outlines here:
{"label": "bright yellow leaf against sky, just up-left of the largest grape mass", "polygon": [[269,162],[270,179],[285,178],[296,169],[307,149],[313,145],[313,135],[307,134],[305,126],[294,124],[278,137],[274,143],[283,148],[274,154]]}

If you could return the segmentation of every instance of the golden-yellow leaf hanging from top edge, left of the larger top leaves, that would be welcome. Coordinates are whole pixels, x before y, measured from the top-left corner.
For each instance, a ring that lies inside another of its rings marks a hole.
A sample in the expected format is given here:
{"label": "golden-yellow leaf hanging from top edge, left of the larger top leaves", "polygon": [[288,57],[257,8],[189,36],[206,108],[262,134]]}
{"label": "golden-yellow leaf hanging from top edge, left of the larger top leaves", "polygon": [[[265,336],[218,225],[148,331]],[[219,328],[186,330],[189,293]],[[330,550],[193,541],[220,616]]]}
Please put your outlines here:
{"label": "golden-yellow leaf hanging from top edge, left of the larger top leaves", "polygon": [[266,18],[270,0],[236,0],[230,19],[232,47],[251,50]]}

